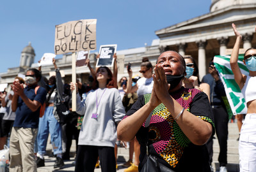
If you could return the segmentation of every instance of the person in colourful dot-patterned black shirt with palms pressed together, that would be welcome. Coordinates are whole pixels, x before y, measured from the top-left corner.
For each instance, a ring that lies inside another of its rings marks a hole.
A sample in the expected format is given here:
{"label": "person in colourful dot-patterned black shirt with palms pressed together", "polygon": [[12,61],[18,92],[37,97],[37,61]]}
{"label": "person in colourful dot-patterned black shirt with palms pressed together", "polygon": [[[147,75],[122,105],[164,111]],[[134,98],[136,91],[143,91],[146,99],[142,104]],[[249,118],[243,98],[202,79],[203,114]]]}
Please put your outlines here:
{"label": "person in colourful dot-patterned black shirt with palms pressed together", "polygon": [[141,145],[139,170],[148,154],[173,171],[211,171],[205,143],[214,134],[207,95],[182,87],[183,57],[174,51],[157,59],[152,94],[138,98],[117,127],[120,140]]}

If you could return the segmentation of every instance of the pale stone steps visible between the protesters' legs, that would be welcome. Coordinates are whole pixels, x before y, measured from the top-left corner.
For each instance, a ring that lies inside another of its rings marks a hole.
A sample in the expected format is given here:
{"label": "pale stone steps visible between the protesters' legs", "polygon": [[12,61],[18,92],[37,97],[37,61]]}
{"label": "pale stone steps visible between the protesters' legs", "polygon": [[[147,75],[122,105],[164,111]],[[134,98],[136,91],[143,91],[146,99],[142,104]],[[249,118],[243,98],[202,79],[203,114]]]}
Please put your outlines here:
{"label": "pale stone steps visible between the protesters' legs", "polygon": [[[216,136],[215,136],[216,137]],[[238,129],[236,123],[228,124],[228,164],[227,169],[228,172],[237,172],[239,171],[239,155],[238,155],[238,141],[236,140],[238,137]],[[47,145],[48,152],[51,152],[51,145]],[[75,142],[72,143],[71,154],[74,155],[76,150]],[[219,170],[218,164],[218,140],[214,140],[213,145],[214,155],[212,166],[214,167],[214,171]],[[124,171],[122,168],[122,164],[124,161],[129,159],[129,150],[125,148],[118,148],[118,172]],[[65,166],[63,169],[54,169],[53,164],[56,158],[45,156],[45,167],[38,168],[38,172],[52,172],[52,171],[74,171],[74,166],[72,166],[72,162],[74,162],[74,157],[70,159],[70,161],[65,161]],[[95,172],[101,171],[100,168],[95,169]]]}

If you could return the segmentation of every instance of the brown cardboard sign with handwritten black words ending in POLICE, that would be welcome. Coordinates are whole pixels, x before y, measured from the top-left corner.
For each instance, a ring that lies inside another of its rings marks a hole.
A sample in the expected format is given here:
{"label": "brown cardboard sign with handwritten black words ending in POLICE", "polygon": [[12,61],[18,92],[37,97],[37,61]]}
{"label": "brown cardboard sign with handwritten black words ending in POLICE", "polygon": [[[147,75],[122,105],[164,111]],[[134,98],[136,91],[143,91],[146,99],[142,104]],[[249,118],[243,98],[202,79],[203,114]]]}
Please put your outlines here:
{"label": "brown cardboard sign with handwritten black words ending in POLICE", "polygon": [[55,27],[55,54],[95,50],[97,19],[77,20]]}

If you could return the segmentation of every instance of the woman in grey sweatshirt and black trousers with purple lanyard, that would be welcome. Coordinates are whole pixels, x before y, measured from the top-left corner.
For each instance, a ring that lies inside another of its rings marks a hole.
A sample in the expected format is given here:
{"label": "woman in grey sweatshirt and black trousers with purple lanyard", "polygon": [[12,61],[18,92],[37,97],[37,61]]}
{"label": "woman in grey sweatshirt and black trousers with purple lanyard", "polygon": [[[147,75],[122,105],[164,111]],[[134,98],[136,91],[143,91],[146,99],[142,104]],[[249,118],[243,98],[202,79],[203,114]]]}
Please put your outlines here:
{"label": "woman in grey sweatshirt and black trousers with purple lanyard", "polygon": [[[93,90],[85,101],[77,93],[77,113],[84,115],[79,133],[75,171],[94,171],[98,156],[102,171],[116,171],[116,125],[125,111],[109,68],[100,67],[93,80]],[[74,90],[74,83],[70,83]]]}

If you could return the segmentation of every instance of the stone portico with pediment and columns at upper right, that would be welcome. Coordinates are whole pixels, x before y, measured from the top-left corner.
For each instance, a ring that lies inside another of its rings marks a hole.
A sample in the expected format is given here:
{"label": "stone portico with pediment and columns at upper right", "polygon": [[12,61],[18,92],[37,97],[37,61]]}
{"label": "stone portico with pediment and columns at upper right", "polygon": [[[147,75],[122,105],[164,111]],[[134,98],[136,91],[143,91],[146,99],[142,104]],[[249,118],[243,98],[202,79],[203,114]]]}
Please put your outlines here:
{"label": "stone portico with pediment and columns at upper right", "polygon": [[202,78],[214,55],[225,55],[227,48],[233,48],[236,36],[232,23],[243,35],[241,48],[255,47],[256,1],[212,0],[209,13],[156,31],[160,51],[192,55]]}

